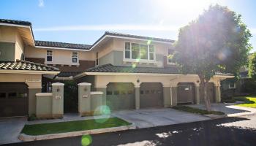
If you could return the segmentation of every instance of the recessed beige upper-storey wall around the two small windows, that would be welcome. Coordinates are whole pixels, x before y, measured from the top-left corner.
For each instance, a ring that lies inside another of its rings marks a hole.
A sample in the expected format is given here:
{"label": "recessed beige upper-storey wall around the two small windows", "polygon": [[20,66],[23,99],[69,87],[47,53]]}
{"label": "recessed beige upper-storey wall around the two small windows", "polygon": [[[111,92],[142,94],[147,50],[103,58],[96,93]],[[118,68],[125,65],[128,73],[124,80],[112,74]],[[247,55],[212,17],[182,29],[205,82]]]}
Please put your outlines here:
{"label": "recessed beige upper-storey wall around the two small windows", "polygon": [[[59,50],[59,49],[46,49],[42,47],[26,46],[25,55],[26,58],[45,58],[47,50],[53,50],[53,61],[45,62],[45,64],[64,64],[64,65],[78,65],[72,63],[72,53],[78,53],[79,60],[94,61],[94,53],[79,51],[79,50]],[[79,61],[78,61],[79,62]]]}

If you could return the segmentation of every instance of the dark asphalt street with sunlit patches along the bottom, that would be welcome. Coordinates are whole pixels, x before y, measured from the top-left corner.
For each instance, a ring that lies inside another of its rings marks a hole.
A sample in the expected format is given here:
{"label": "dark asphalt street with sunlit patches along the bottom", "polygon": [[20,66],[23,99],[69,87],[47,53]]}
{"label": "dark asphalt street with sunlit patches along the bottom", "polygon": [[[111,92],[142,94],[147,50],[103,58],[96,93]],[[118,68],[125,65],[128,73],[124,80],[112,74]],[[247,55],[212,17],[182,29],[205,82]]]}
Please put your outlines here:
{"label": "dark asphalt street with sunlit patches along the bottom", "polygon": [[10,145],[256,145],[256,115]]}

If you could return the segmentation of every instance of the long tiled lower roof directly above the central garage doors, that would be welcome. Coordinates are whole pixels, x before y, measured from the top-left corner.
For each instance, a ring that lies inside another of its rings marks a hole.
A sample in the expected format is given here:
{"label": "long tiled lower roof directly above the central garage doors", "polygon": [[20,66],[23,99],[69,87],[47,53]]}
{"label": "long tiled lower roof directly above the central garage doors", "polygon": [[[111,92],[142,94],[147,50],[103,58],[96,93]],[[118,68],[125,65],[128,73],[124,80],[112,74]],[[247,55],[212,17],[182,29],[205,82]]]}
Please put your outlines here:
{"label": "long tiled lower roof directly above the central garage doors", "polygon": [[132,66],[113,66],[105,64],[87,69],[86,72],[128,72],[128,73],[152,73],[152,74],[178,74],[176,67],[156,68],[156,67],[132,67]]}

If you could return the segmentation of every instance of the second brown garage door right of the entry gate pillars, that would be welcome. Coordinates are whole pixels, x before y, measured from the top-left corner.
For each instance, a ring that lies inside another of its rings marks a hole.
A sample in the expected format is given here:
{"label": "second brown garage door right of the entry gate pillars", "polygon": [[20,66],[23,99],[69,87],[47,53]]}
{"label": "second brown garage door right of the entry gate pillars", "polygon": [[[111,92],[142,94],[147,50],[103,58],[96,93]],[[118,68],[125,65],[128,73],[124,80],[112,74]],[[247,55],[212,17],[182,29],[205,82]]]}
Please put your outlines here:
{"label": "second brown garage door right of the entry gate pillars", "polygon": [[143,82],[140,84],[140,108],[163,107],[162,83]]}

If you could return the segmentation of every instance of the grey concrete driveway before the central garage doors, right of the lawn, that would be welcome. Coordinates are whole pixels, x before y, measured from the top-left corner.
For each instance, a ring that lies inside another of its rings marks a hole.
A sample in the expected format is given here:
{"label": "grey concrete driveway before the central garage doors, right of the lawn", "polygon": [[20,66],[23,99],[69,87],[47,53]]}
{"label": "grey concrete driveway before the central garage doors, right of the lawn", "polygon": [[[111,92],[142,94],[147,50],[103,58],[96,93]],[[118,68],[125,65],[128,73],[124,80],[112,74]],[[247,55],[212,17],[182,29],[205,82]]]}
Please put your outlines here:
{"label": "grey concrete driveway before the central garage doors, right of the lawn", "polygon": [[170,108],[123,110],[113,112],[112,115],[135,123],[138,128],[166,126],[171,124],[189,123],[211,119],[204,115],[181,112]]}

